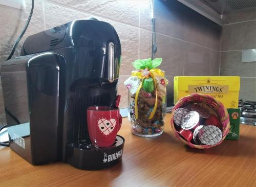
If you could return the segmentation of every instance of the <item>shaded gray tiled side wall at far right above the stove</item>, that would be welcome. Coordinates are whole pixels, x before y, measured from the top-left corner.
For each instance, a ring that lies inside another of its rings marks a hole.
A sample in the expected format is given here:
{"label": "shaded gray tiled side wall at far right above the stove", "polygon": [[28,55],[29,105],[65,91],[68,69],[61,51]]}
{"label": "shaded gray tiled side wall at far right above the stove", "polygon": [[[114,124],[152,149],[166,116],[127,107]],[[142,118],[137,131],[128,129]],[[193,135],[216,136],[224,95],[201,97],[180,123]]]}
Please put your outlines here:
{"label": "shaded gray tiled side wall at far right above the stove", "polygon": [[256,101],[256,62],[241,62],[243,49],[256,48],[256,8],[224,15],[221,76],[240,76],[240,99]]}

